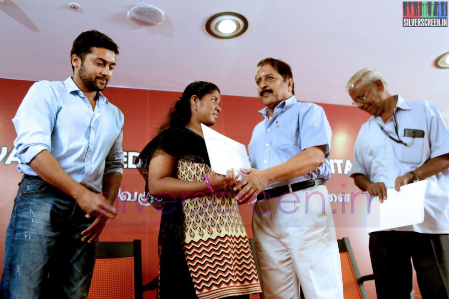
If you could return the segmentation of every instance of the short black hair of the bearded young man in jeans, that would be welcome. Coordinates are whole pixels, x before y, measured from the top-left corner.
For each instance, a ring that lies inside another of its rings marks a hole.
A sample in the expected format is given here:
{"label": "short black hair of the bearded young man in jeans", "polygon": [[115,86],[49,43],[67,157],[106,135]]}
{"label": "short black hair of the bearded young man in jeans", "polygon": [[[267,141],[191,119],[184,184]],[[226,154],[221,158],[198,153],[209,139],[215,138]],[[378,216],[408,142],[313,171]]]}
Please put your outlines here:
{"label": "short black hair of the bearded young man in jeans", "polygon": [[[72,50],[70,51],[70,64],[72,63],[73,54],[82,61],[86,54],[92,53],[92,47],[111,50],[115,55],[119,53],[117,44],[106,34],[98,30],[84,31],[73,41]],[[75,71],[73,65],[72,70]]]}

